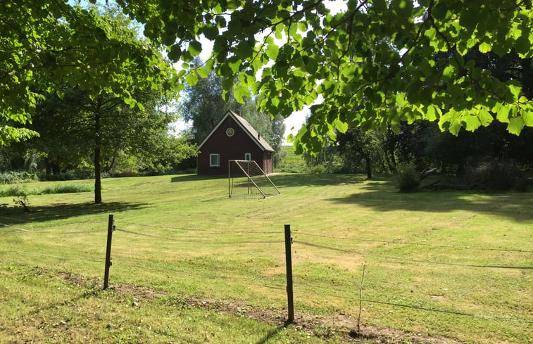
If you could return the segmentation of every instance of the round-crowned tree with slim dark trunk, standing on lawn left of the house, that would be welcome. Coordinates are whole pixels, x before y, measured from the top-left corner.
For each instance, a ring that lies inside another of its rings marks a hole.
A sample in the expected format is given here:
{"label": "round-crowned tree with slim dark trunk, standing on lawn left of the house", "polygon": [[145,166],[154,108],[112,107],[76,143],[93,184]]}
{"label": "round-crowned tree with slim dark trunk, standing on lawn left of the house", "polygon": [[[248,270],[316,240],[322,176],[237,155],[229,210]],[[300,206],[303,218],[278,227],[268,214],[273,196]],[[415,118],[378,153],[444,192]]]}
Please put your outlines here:
{"label": "round-crowned tree with slim dark trunk, standing on lawn left of the house", "polygon": [[113,96],[89,97],[80,89],[63,89],[63,98],[40,101],[31,129],[41,133],[28,144],[46,155],[54,172],[87,160],[94,168],[94,201],[101,203],[101,172],[111,170],[119,154],[157,169],[194,155],[194,146],[170,135],[175,114],[163,111],[157,92],[139,90],[143,110]]}

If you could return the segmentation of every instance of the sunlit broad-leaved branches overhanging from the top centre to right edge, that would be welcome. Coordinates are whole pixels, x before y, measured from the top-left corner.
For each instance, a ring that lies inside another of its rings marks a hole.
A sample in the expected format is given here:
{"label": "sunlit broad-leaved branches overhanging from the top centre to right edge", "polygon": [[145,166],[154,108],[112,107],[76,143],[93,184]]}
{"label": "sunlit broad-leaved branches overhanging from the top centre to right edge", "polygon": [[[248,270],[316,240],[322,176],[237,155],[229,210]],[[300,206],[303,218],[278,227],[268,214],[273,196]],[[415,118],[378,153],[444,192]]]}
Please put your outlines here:
{"label": "sunlit broad-leaved branches overhanging from the top centre to right edge", "polygon": [[[530,64],[531,1],[351,0],[336,14],[320,0],[118,3],[175,61],[199,54],[201,37],[213,41],[206,68],[237,100],[251,87],[262,108],[284,116],[318,101],[296,136],[300,149],[316,151],[336,130],[398,131],[420,119],[453,134],[495,118],[514,134],[533,125],[518,80],[501,82],[464,58],[472,47],[500,56],[514,49]],[[439,53],[449,58],[437,60]]]}

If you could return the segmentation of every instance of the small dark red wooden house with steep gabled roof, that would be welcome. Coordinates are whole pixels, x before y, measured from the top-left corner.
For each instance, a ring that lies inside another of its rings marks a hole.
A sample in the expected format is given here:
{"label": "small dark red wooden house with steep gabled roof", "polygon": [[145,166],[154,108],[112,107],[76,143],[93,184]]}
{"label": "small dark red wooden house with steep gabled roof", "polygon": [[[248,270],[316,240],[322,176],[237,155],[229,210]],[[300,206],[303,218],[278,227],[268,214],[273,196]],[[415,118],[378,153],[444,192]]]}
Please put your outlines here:
{"label": "small dark red wooden house with steep gabled roof", "polygon": [[272,173],[274,150],[249,122],[231,110],[197,151],[199,175],[227,175],[228,160],[255,160],[265,174]]}

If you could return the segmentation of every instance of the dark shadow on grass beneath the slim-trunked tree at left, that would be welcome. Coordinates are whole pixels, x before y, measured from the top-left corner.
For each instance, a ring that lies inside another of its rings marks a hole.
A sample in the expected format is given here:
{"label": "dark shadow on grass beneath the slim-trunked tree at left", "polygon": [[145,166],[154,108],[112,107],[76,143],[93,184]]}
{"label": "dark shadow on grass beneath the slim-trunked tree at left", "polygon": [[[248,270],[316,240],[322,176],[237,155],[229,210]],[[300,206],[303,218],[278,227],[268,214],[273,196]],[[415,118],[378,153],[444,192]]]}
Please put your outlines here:
{"label": "dark shadow on grass beneath the slim-trunked tree at left", "polygon": [[113,214],[126,210],[136,210],[148,206],[146,203],[110,202],[110,203],[80,203],[80,204],[54,204],[32,206],[30,212],[23,212],[22,208],[9,207],[0,204],[0,222],[2,224],[16,225],[30,222],[46,222],[56,219],[68,219],[84,215]]}

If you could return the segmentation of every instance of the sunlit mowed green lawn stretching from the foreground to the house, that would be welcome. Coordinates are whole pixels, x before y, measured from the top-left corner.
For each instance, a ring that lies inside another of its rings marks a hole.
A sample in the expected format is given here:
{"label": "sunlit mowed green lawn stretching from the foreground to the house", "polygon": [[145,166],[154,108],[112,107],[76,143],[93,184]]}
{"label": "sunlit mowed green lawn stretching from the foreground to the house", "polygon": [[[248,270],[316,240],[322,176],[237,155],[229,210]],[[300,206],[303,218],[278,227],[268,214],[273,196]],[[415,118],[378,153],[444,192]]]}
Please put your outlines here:
{"label": "sunlit mowed green lawn stretching from the foreground to the house", "polygon": [[[282,196],[264,200],[228,199],[227,179],[194,175],[104,179],[102,205],[91,193],[30,196],[29,214],[0,198],[0,337],[341,343],[352,339],[334,329],[355,328],[361,293],[363,328],[439,343],[533,338],[532,193],[398,193],[391,179],[358,175],[272,180]],[[108,214],[111,287],[153,297],[99,291]],[[284,224],[296,324],[315,319],[311,334],[246,316],[287,317]],[[189,297],[239,307],[175,302]]]}

